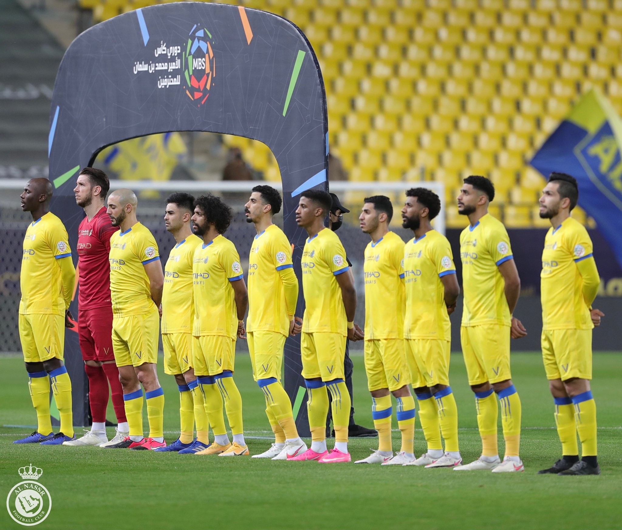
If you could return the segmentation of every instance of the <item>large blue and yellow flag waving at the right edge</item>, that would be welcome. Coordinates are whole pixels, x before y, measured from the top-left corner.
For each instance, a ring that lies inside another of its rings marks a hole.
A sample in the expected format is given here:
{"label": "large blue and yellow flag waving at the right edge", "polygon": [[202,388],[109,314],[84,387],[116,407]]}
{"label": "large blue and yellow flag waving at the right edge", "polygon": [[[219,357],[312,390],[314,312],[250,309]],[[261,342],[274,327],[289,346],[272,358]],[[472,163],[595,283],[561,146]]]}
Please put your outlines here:
{"label": "large blue and yellow flag waving at the right edge", "polygon": [[622,121],[590,90],[531,160],[542,175],[577,179],[579,205],[592,216],[622,266]]}

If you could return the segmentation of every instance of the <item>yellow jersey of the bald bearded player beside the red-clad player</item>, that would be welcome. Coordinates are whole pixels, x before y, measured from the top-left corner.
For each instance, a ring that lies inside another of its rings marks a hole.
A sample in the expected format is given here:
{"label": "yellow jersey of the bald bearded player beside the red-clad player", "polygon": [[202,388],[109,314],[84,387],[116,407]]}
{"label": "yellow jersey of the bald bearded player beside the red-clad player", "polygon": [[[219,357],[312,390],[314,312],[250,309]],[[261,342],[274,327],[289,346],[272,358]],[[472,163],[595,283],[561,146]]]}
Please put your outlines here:
{"label": "yellow jersey of the bald bearded player beside the red-clad player", "polygon": [[142,223],[111,236],[108,261],[114,315],[144,315],[152,310],[154,301],[144,266],[159,259],[156,239]]}

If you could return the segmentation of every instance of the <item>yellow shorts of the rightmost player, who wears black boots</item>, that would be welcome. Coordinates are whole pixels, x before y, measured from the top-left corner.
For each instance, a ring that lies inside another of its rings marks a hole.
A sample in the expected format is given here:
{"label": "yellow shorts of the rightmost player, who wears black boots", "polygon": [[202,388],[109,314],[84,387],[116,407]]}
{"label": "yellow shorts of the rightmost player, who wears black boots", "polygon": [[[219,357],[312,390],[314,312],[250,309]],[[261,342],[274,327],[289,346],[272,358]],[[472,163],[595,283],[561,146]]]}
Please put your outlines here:
{"label": "yellow shorts of the rightmost player, who wears black boots", "polygon": [[592,379],[592,330],[542,330],[547,379]]}

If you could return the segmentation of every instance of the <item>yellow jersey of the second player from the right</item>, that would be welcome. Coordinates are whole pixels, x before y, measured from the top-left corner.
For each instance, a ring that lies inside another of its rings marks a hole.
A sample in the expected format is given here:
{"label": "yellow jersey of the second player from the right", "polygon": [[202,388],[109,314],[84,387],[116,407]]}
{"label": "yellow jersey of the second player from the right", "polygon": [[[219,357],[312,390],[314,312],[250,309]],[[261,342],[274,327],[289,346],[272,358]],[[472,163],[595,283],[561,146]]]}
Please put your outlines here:
{"label": "yellow jersey of the second player from the right", "polygon": [[464,294],[462,325],[511,325],[505,281],[498,268],[504,261],[513,259],[503,223],[486,213],[475,226],[467,226],[460,234],[460,259]]}

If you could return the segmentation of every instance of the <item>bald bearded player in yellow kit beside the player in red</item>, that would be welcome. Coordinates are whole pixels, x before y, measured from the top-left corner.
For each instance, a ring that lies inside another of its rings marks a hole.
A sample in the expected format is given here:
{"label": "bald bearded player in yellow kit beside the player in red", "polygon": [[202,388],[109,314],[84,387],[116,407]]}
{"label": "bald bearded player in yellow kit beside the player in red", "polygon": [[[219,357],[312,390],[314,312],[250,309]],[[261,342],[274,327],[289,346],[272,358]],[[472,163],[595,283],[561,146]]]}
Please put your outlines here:
{"label": "bald bearded player in yellow kit beside the player in red", "polygon": [[[156,239],[136,219],[138,200],[122,188],[108,197],[108,213],[119,231],[110,238],[110,293],[113,302],[113,351],[123,386],[129,435],[107,449],[151,450],[165,447],[164,391],[157,379],[160,332],[158,307],[164,273]],[[149,437],[142,435],[142,387],[147,398]]]}

